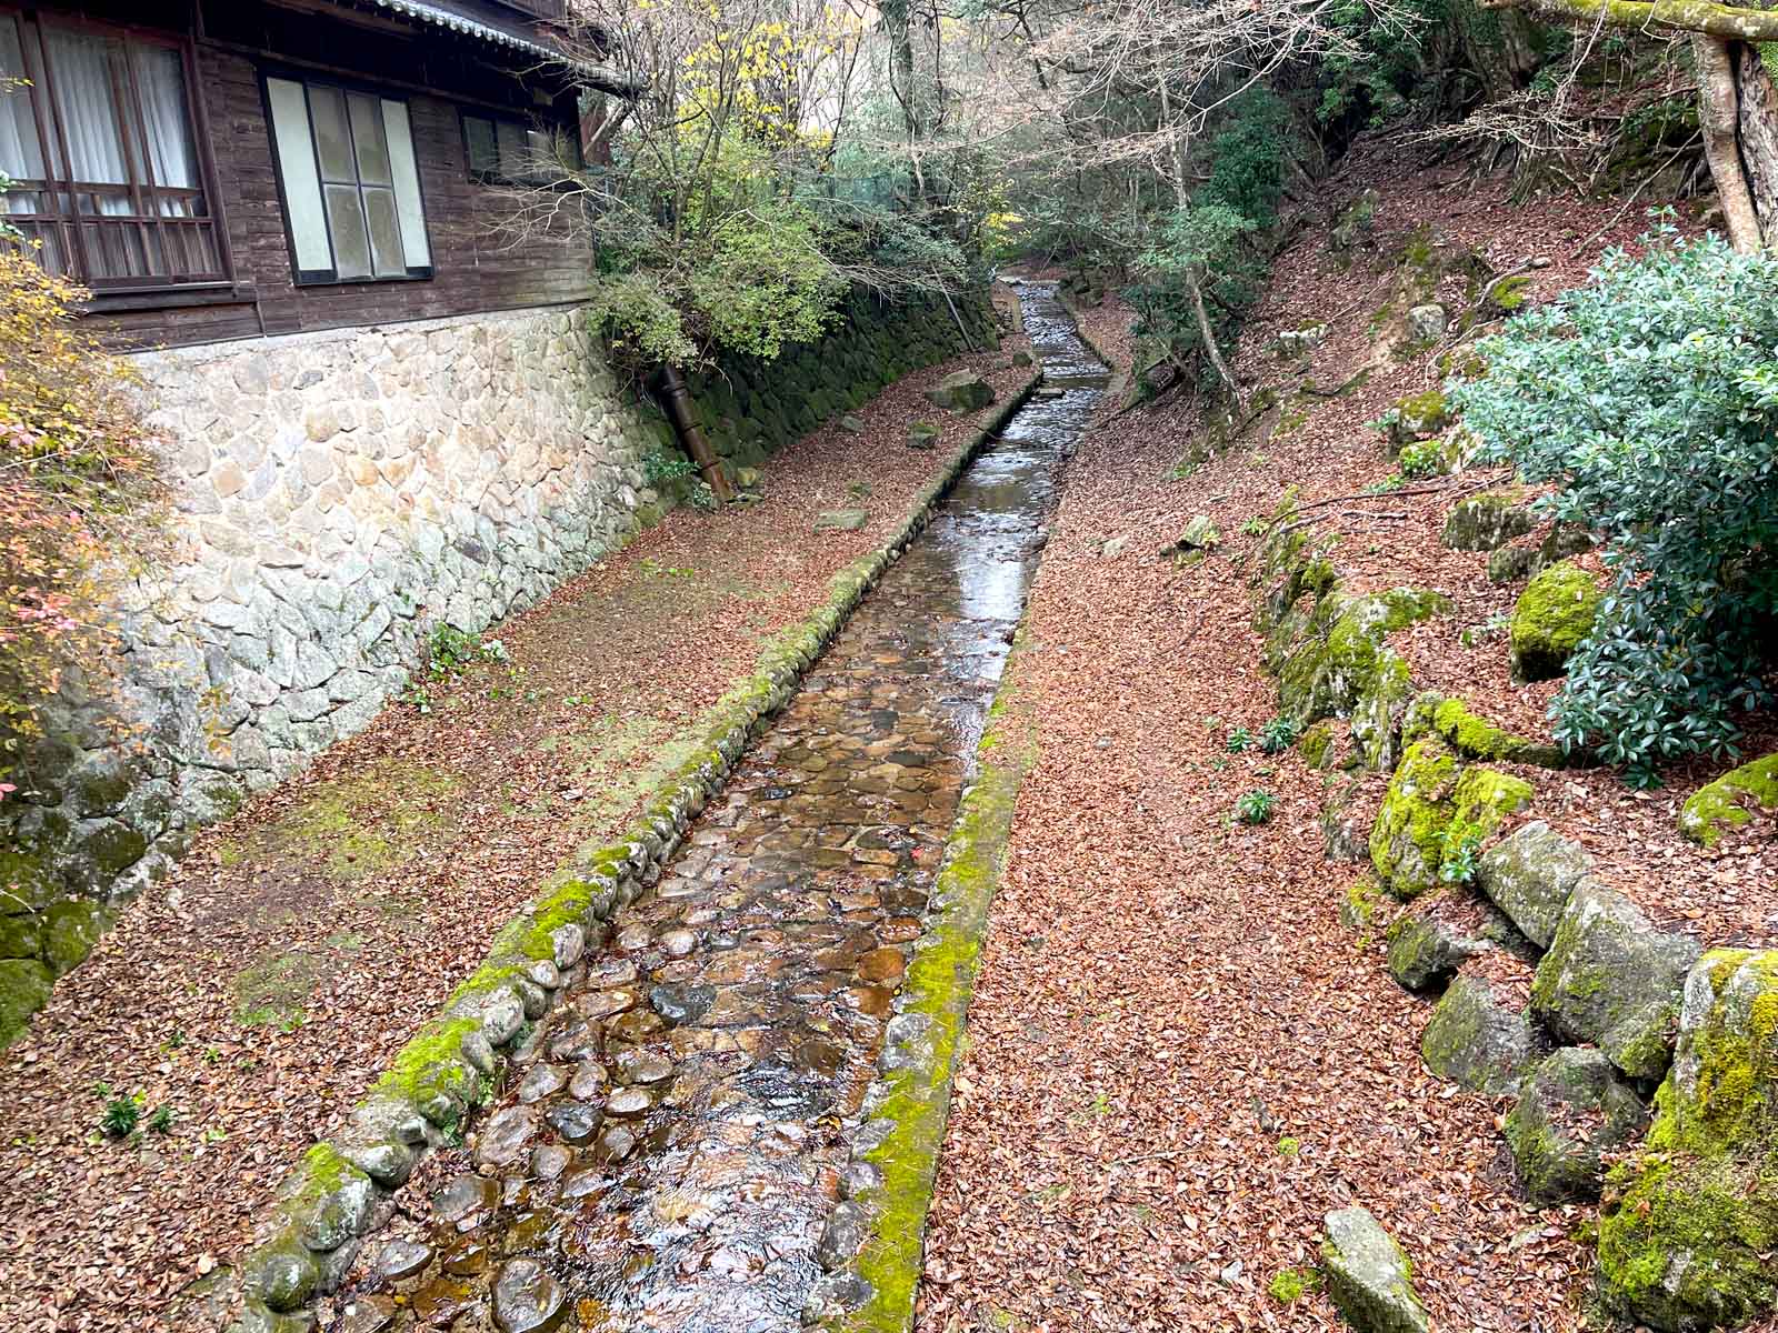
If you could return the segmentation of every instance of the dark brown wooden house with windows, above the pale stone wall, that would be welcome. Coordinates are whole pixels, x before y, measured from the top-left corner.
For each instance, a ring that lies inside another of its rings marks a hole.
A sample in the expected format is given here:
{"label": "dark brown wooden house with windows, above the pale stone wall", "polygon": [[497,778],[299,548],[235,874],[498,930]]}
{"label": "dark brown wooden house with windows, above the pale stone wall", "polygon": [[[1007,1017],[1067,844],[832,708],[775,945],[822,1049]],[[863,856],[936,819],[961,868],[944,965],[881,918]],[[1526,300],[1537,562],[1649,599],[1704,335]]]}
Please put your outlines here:
{"label": "dark brown wooden house with windows, above the pale stone wall", "polygon": [[558,306],[510,194],[580,117],[565,0],[0,2],[0,212],[135,347]]}

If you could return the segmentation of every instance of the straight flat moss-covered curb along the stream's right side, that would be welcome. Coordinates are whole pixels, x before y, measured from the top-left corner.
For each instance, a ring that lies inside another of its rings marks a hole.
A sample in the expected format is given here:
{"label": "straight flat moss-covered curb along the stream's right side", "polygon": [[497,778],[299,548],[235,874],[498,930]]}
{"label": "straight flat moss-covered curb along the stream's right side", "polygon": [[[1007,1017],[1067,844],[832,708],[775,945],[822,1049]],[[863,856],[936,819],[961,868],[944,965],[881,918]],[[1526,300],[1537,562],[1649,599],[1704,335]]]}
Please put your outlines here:
{"label": "straight flat moss-covered curb along the stream's right side", "polygon": [[[932,889],[926,930],[901,983],[900,1013],[884,1038],[880,1074],[866,1102],[848,1180],[861,1182],[836,1212],[862,1230],[853,1264],[825,1278],[805,1322],[836,1333],[907,1333],[914,1326],[926,1210],[932,1207],[964,1024],[981,965],[981,938],[999,889],[1019,787],[1037,757],[1037,722],[1019,702],[1013,643],[978,775],[964,793]],[[832,1232],[832,1225],[829,1230]]]}

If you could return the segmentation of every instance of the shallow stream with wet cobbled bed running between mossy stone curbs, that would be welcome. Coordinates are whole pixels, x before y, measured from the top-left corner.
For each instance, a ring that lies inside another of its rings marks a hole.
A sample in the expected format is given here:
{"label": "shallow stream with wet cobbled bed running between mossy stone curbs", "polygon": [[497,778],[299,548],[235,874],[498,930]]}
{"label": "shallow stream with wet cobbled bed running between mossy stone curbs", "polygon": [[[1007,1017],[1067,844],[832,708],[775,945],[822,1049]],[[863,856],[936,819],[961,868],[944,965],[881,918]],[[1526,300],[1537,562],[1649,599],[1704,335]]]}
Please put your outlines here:
{"label": "shallow stream with wet cobbled bed running between mossy stone curbs", "polygon": [[619,914],[336,1329],[797,1329],[850,1129],[1102,366],[1022,288],[1047,387]]}

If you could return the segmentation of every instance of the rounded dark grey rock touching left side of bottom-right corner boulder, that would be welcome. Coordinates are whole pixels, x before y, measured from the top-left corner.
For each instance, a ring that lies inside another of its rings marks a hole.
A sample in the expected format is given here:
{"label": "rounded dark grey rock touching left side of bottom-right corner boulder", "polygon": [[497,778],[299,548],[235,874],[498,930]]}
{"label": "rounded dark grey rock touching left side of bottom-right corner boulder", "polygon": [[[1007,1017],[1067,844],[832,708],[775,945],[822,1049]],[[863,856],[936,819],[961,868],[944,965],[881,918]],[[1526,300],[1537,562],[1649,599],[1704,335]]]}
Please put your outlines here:
{"label": "rounded dark grey rock touching left side of bottom-right corner boulder", "polygon": [[1598,1050],[1563,1047],[1526,1079],[1506,1116],[1506,1146],[1536,1203],[1598,1198],[1607,1153],[1648,1123],[1643,1098]]}

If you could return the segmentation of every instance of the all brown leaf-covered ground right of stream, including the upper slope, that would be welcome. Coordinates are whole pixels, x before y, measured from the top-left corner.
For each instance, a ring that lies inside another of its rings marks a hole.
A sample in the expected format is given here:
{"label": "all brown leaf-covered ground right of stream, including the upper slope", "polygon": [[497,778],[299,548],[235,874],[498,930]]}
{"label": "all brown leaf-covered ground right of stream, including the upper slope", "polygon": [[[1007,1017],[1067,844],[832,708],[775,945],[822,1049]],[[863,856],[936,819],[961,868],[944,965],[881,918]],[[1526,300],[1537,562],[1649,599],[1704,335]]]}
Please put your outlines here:
{"label": "all brown leaf-covered ground right of stream, including the upper slope", "polygon": [[[1280,256],[1243,339],[1248,384],[1294,389],[1296,370],[1268,345],[1323,320],[1317,386],[1373,361],[1403,313],[1415,233],[1422,256],[1479,249],[1495,270],[1549,258],[1529,284],[1542,300],[1641,229],[1614,203],[1510,206],[1501,187],[1410,165],[1362,160],[1326,190],[1325,219]],[[1366,187],[1382,194],[1378,226],[1342,259],[1326,224]],[[1460,309],[1465,281],[1437,258],[1431,268],[1417,300],[1437,293]],[[1106,350],[1124,322],[1115,302],[1083,313]],[[1287,487],[1316,501],[1383,478],[1392,464],[1366,421],[1437,386],[1438,350],[1380,357],[1341,396],[1287,400],[1182,480],[1170,473],[1204,439],[1184,407],[1109,419],[1076,457],[1019,668],[1040,759],[969,1015],[925,1333],[1337,1328],[1312,1281],[1296,1299],[1271,1285],[1312,1274],[1323,1214],[1348,1203],[1406,1246],[1440,1328],[1581,1326],[1591,1253],[1574,1237],[1591,1210],[1526,1205],[1497,1132],[1506,1104],[1422,1068],[1430,1004],[1389,978],[1374,938],[1337,922],[1364,867],[1323,855],[1321,775],[1296,752],[1230,755],[1225,743],[1230,725],[1257,734],[1277,713],[1248,578],[1259,539],[1243,524],[1269,517]],[[1508,611],[1517,588],[1490,585],[1485,556],[1438,544],[1453,499],[1497,480],[1341,501],[1319,526],[1339,533],[1355,588],[1412,583],[1458,601],[1456,617],[1398,636],[1417,679],[1547,734],[1554,686],[1513,684],[1504,636],[1460,638]],[[1225,542],[1181,569],[1161,549],[1195,514]],[[1755,752],[1762,739],[1771,748],[1769,723]],[[1721,768],[1673,773],[1654,794],[1609,771],[1538,775],[1533,812],[1586,842],[1597,871],[1659,919],[1707,942],[1771,944],[1773,821],[1710,857],[1673,823]],[[1268,825],[1230,821],[1248,791],[1277,798]],[[1524,967],[1495,958],[1497,979],[1522,986]]]}

